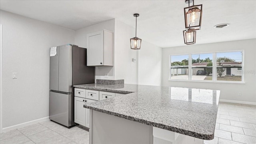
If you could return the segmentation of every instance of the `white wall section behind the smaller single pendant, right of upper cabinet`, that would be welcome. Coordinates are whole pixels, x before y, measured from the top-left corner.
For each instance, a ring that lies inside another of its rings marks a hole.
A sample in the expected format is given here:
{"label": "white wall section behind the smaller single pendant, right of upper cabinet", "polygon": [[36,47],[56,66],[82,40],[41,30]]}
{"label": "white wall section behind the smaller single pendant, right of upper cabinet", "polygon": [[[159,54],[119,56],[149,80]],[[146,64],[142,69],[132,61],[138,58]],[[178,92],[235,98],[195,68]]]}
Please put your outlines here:
{"label": "white wall section behind the smaller single pendant, right of upper cabinet", "polygon": [[[115,79],[124,79],[125,84],[138,84],[138,50],[130,48],[135,28],[116,19],[115,36]],[[132,58],[136,58],[136,62],[132,62]]]}

